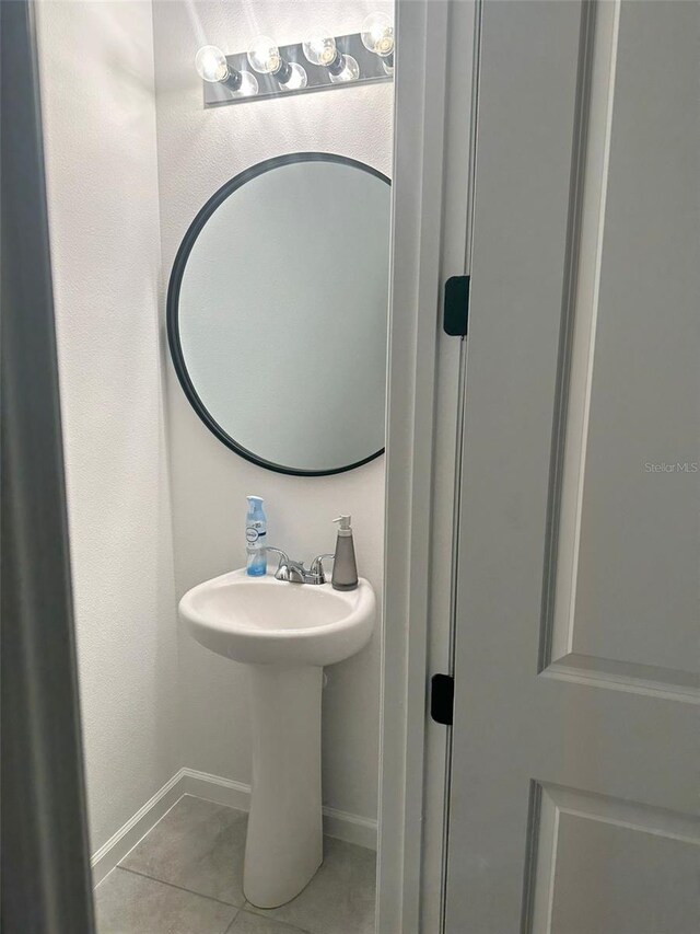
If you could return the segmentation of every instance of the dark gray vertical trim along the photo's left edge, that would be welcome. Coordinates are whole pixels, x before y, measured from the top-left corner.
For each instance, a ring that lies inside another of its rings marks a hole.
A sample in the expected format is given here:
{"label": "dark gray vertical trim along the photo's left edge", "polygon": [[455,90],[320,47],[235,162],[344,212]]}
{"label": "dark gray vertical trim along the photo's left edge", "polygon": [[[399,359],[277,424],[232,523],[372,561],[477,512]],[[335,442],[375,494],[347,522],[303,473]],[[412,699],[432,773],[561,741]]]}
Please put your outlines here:
{"label": "dark gray vertical trim along the photo's left edge", "polygon": [[33,8],[0,3],[2,931],[94,930]]}

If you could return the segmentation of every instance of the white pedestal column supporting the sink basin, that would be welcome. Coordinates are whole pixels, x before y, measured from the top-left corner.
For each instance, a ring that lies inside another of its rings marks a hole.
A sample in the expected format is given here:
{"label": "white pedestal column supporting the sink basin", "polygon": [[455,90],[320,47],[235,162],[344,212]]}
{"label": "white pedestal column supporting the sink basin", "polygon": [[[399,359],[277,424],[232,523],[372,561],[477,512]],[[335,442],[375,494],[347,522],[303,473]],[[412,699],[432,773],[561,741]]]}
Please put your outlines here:
{"label": "white pedestal column supporting the sink basin", "polygon": [[290,901],[323,861],[323,668],[249,665],[253,793],[243,890],[258,908]]}

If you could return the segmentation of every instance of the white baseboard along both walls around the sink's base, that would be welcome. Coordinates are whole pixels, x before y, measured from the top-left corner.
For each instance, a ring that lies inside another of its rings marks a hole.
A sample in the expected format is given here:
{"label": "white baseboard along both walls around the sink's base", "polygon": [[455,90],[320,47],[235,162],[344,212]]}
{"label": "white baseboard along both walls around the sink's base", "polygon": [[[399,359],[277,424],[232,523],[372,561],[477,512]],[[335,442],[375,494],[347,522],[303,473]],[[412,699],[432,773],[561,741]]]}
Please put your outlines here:
{"label": "white baseboard along both walls around the sink's base", "polygon": [[[93,854],[93,885],[101,883],[183,795],[194,795],[240,810],[248,810],[250,807],[249,785],[197,772],[195,769],[180,769]],[[377,822],[368,817],[325,807],[324,833],[347,843],[376,850]]]}

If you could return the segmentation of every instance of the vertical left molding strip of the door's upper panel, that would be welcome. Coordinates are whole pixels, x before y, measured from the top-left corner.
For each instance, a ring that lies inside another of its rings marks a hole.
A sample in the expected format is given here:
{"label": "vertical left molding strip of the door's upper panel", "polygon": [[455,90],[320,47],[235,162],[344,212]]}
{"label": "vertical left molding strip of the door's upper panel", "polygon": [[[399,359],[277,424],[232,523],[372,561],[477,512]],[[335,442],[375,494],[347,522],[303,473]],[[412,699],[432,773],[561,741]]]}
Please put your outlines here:
{"label": "vertical left molding strip of the door's upper panel", "polygon": [[584,3],[570,238],[552,433],[539,670],[573,653],[620,0]]}

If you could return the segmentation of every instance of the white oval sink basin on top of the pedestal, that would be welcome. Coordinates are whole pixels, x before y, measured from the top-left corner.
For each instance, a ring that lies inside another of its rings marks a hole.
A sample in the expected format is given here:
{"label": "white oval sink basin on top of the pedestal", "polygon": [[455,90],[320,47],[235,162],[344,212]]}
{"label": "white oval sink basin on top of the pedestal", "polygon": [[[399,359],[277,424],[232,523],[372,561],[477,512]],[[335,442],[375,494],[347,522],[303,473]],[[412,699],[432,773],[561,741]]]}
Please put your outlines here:
{"label": "white oval sink basin on top of the pedestal", "polygon": [[179,603],[189,632],[218,655],[254,665],[332,665],[359,652],[374,625],[374,591],[222,574]]}

